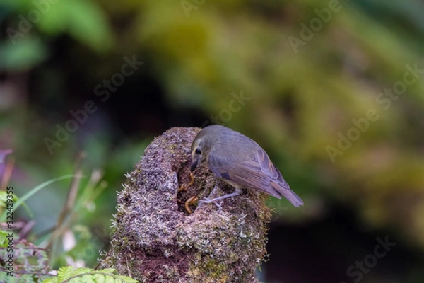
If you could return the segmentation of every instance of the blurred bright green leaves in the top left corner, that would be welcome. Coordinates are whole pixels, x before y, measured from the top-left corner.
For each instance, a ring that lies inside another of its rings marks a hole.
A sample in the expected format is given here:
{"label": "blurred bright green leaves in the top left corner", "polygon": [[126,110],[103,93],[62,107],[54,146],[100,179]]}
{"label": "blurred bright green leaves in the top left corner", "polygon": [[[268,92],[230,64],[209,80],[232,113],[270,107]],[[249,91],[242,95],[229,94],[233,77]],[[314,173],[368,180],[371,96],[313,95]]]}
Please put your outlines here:
{"label": "blurred bright green leaves in the top left corner", "polygon": [[[46,35],[69,34],[96,52],[110,50],[114,42],[105,13],[94,1],[4,1],[9,11],[7,40],[0,42],[1,69],[30,69],[48,57]],[[37,16],[34,16],[37,15]],[[37,30],[37,31],[35,31]]]}

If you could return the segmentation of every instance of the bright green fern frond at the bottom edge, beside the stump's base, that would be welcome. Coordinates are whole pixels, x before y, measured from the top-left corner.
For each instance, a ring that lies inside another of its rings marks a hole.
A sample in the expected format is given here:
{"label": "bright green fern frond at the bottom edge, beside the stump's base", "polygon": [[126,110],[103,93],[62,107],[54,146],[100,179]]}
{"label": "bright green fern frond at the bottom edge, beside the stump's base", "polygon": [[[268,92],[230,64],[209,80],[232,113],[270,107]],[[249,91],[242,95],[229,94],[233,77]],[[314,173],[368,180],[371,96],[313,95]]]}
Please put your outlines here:
{"label": "bright green fern frond at the bottom edge, beside the stump's base", "polygon": [[105,270],[92,270],[90,268],[77,268],[71,266],[61,267],[57,272],[57,277],[49,278],[43,283],[137,283],[131,277],[117,275],[116,270],[107,268]]}

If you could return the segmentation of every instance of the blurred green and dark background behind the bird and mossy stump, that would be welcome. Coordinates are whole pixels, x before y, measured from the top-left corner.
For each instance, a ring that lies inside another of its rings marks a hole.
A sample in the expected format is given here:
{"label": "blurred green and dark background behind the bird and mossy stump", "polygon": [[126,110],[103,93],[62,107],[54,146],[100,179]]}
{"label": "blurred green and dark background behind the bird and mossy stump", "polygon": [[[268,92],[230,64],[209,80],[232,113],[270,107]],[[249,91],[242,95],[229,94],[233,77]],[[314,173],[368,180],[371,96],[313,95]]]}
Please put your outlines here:
{"label": "blurred green and dark background behind the bird and mossy stump", "polygon": [[[0,149],[13,154],[0,177],[13,163],[22,196],[85,152],[81,205],[53,258],[94,267],[146,145],[218,123],[261,144],[305,202],[270,198],[261,281],[423,282],[423,11],[418,0],[1,0]],[[29,241],[46,245],[70,183],[31,197],[33,218],[19,211]],[[90,186],[105,189],[92,200]]]}

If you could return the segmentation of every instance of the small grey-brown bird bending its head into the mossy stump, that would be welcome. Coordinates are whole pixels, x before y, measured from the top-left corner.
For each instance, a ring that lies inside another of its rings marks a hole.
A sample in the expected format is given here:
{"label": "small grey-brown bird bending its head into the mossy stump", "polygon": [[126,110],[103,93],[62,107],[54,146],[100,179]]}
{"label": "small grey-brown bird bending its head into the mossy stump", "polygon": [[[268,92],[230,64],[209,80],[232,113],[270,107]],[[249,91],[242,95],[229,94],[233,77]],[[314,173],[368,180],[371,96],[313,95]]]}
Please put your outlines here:
{"label": "small grey-brown bird bending its head into the mossy stump", "polygon": [[242,188],[247,188],[279,199],[283,196],[295,207],[303,205],[264,149],[253,139],[228,127],[211,125],[196,135],[192,143],[190,170],[193,172],[202,163],[207,163],[216,177],[235,187],[235,192],[201,202],[216,203],[240,195]]}

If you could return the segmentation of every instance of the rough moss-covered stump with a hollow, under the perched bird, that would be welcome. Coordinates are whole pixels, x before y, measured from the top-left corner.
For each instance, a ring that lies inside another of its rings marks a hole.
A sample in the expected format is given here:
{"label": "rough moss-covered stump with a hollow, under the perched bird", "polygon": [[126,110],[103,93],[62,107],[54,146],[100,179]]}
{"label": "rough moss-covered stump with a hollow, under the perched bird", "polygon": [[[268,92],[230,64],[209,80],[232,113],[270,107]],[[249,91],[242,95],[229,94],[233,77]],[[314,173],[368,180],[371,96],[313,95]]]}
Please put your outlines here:
{"label": "rough moss-covered stump with a hollow, under the perched bird", "polygon": [[[246,191],[214,204],[192,206],[193,195],[225,195],[224,185],[200,166],[189,182],[190,146],[199,128],[172,128],[146,148],[117,197],[112,247],[101,260],[140,282],[257,282],[266,255],[266,195]],[[217,183],[218,182],[218,183]]]}

